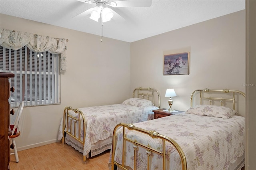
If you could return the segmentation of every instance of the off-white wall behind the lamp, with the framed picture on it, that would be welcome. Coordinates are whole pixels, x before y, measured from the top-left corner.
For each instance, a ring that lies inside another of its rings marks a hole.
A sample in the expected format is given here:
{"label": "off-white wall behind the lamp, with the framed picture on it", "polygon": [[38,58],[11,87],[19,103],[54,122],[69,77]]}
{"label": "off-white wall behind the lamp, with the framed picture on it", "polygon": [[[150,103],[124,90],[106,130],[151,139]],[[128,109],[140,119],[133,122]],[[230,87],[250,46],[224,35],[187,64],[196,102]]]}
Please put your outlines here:
{"label": "off-white wall behind the lamp, with the framed picture on it", "polygon": [[[163,55],[182,52],[190,52],[189,75],[163,75]],[[169,88],[177,94],[172,108],[185,111],[196,89],[245,92],[244,84],[245,10],[131,43],[131,89],[158,89],[162,108]]]}

